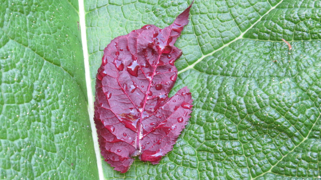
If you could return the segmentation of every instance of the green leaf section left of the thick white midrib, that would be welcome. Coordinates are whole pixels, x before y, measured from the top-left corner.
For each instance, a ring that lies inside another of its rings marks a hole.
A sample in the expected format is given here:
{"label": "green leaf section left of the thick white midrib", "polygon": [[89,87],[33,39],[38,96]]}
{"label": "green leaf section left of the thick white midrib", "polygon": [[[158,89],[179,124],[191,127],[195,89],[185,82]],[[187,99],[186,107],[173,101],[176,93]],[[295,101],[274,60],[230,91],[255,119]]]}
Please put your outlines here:
{"label": "green leaf section left of the thick white midrib", "polygon": [[78,2],[0,0],[0,179],[98,179]]}

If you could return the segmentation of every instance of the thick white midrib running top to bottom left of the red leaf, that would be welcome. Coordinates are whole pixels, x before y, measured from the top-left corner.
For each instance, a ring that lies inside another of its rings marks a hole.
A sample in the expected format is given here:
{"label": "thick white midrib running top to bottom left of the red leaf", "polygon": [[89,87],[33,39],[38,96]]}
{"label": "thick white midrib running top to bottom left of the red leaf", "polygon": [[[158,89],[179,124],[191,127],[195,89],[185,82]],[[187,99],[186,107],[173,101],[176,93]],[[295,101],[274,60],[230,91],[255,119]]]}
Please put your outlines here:
{"label": "thick white midrib running top to bottom left of the red leaf", "polygon": [[93,100],[92,89],[91,89],[89,55],[88,55],[88,48],[87,48],[85,7],[83,4],[83,0],[78,0],[78,2],[79,2],[79,24],[81,29],[80,32],[81,32],[81,39],[82,39],[82,51],[83,51],[85,78],[86,78],[86,85],[87,85],[88,113],[89,113],[89,119],[90,119],[90,125],[91,125],[92,139],[93,139],[94,149],[95,149],[95,154],[97,159],[99,179],[104,180],[104,174],[102,171],[102,162],[100,158],[100,149],[98,144],[98,137],[97,137],[96,127],[94,123],[94,100]]}

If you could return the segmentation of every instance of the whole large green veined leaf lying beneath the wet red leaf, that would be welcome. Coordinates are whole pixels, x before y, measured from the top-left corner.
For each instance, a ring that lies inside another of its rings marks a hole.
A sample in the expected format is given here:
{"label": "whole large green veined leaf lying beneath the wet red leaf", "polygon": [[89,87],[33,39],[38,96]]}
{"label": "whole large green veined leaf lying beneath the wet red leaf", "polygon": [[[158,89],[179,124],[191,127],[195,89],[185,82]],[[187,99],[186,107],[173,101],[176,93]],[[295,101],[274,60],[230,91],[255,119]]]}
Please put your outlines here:
{"label": "whole large green veined leaf lying beneath the wet red leaf", "polygon": [[[191,1],[86,0],[90,64],[79,2],[0,3],[0,179],[98,179],[86,91],[103,49]],[[191,90],[186,130],[160,164],[102,179],[320,179],[320,17],[317,0],[195,1],[169,94]]]}

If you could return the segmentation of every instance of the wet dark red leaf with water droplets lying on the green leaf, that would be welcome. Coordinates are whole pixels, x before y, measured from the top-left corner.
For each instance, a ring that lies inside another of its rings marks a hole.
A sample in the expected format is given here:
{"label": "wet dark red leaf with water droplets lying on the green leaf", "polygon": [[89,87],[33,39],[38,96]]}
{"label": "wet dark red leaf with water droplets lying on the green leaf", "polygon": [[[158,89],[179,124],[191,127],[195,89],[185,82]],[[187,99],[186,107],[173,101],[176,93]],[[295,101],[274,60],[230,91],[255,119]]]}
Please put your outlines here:
{"label": "wet dark red leaf with water droplets lying on the green leaf", "polygon": [[158,164],[190,118],[189,89],[170,98],[168,93],[177,78],[174,61],[182,55],[174,43],[191,5],[169,27],[145,25],[116,37],[104,50],[94,121],[101,155],[117,171],[125,173],[138,155]]}

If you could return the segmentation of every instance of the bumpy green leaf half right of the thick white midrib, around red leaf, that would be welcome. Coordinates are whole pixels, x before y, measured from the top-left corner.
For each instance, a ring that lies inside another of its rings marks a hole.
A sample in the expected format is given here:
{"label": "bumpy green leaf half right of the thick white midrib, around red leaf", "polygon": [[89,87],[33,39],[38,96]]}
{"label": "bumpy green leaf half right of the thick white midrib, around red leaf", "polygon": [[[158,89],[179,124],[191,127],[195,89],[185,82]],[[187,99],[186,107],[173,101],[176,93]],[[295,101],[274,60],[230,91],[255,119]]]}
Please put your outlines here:
{"label": "bumpy green leaf half right of the thick white midrib, around red leaf", "polygon": [[[163,28],[190,3],[85,0],[92,89],[112,38]],[[172,92],[191,89],[189,125],[160,164],[103,162],[104,178],[321,179],[320,1],[196,0],[190,19]]]}

